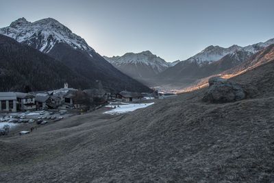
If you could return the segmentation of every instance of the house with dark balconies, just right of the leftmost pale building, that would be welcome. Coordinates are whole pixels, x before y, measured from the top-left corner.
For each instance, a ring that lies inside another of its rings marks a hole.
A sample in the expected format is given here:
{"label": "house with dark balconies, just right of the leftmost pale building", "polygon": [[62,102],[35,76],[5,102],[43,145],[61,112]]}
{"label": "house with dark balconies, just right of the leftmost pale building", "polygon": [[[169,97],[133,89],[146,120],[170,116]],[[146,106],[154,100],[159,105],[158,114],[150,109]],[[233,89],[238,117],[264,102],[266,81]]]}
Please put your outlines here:
{"label": "house with dark balconies, just right of the leftmost pale building", "polygon": [[36,110],[35,96],[30,93],[16,92],[18,110]]}

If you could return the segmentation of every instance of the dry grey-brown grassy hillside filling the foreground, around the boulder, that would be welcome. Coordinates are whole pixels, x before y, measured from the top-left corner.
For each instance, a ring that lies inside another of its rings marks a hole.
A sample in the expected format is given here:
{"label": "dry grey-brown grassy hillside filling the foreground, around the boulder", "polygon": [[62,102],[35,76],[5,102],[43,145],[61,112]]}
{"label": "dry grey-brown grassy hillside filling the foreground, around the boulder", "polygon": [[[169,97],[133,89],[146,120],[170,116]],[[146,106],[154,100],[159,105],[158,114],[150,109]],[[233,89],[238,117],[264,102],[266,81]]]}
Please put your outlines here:
{"label": "dry grey-brown grassy hillside filling the foreground, around the boulder", "polygon": [[[118,116],[103,109],[0,139],[4,182],[271,182],[274,61],[232,80],[249,97],[201,101],[206,88]],[[14,149],[16,151],[14,151]],[[10,171],[12,169],[12,171]]]}

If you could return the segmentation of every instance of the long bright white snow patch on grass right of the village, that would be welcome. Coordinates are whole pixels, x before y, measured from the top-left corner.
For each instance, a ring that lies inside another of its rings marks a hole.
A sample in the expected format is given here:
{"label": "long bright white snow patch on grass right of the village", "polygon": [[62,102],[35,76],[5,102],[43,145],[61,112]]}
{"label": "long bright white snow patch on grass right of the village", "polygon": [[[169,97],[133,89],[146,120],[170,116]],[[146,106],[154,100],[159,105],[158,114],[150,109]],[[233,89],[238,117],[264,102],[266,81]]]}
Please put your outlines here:
{"label": "long bright white snow patch on grass right of the village", "polygon": [[125,112],[132,112],[139,108],[147,108],[147,106],[150,106],[153,103],[154,102],[152,102],[152,103],[124,103],[125,105],[120,105],[119,107],[116,106],[116,108],[114,108],[114,106],[105,106],[107,108],[114,108],[114,109],[103,112],[103,114],[122,114]]}

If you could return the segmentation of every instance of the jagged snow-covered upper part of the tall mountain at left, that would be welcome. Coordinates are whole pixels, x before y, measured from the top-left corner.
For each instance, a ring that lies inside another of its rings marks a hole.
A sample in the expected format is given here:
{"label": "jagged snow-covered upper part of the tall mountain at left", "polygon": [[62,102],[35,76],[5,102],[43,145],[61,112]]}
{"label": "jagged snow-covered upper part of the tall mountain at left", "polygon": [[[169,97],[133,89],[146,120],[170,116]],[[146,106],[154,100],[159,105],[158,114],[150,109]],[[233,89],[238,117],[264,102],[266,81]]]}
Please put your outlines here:
{"label": "jagged snow-covered upper part of the tall mountain at left", "polygon": [[90,56],[95,54],[94,49],[88,46],[83,38],[51,18],[34,23],[21,18],[12,22],[10,26],[1,28],[0,34],[39,49],[43,53],[49,53],[57,42],[65,42],[74,49],[87,51]]}

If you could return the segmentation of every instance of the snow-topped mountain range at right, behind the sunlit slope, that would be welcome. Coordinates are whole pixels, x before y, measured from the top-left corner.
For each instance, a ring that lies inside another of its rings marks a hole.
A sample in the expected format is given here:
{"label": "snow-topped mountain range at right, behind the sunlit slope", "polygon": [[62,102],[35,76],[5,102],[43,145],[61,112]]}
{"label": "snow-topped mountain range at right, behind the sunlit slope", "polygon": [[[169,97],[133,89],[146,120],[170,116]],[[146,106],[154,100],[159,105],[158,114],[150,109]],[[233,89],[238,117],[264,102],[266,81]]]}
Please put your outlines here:
{"label": "snow-topped mountain range at right, behind the sunlit slope", "polygon": [[158,74],[155,77],[155,83],[171,88],[184,88],[196,84],[203,77],[232,69],[273,43],[274,39],[247,47],[239,47],[238,45],[228,48],[207,47],[195,56],[188,58],[188,60],[181,61]]}

